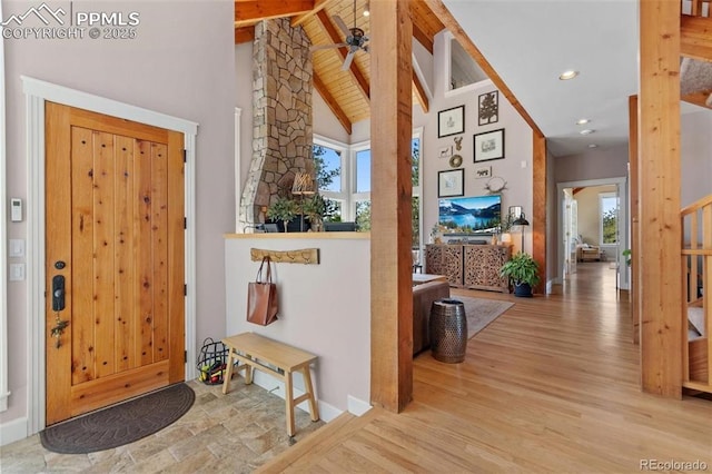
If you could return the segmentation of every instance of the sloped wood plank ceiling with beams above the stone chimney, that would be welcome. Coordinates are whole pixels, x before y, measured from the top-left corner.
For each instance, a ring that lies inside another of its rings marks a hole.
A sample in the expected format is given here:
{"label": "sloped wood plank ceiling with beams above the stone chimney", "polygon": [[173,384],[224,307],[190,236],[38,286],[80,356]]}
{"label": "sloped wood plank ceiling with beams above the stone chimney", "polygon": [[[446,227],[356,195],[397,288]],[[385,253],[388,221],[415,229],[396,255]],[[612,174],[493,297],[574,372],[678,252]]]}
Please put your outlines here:
{"label": "sloped wood plank ceiling with beams above the stone chimney", "polygon": [[[293,26],[301,24],[312,40],[312,45],[333,45],[344,42],[344,33],[334,22],[340,17],[348,28],[354,24],[369,36],[370,21],[364,16],[367,0],[356,0],[354,18],[353,0],[301,0],[301,1],[235,1],[235,43],[253,41],[255,23],[270,18],[291,18]],[[412,3],[413,37],[433,53],[435,34],[445,27],[431,11],[424,0]],[[313,51],[314,86],[350,134],[352,125],[370,117],[370,58],[367,52],[358,51],[352,66],[342,70],[346,48],[332,48]],[[428,111],[428,98],[418,77],[413,73],[414,102]]]}

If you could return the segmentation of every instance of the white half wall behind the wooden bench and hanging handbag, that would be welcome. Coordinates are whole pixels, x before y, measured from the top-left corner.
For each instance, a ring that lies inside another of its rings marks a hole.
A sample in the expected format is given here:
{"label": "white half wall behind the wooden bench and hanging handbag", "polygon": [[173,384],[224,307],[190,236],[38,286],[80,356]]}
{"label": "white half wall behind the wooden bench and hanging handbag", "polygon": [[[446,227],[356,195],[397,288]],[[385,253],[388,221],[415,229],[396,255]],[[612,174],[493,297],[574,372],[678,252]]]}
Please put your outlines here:
{"label": "white half wall behind the wooden bench and hanging handbag", "polygon": [[[227,335],[254,332],[317,355],[315,389],[328,421],[348,409],[349,396],[362,405],[370,399],[370,240],[364,234],[334,239],[319,234],[226,236],[226,328]],[[247,284],[259,268],[250,260],[253,247],[319,249],[319,265],[274,265],[279,319],[266,327],[246,320]],[[277,385],[274,377],[263,381],[267,388]]]}

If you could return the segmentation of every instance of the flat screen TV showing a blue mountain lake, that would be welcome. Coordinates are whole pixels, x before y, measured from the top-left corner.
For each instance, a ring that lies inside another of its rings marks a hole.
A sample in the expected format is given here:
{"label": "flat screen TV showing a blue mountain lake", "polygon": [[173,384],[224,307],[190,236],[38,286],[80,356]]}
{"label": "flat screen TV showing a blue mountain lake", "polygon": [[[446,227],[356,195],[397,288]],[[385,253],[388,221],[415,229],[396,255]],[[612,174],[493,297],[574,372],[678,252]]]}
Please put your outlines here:
{"label": "flat screen TV showing a blue mountain lake", "polygon": [[502,196],[441,198],[437,223],[446,234],[493,234],[502,216]]}

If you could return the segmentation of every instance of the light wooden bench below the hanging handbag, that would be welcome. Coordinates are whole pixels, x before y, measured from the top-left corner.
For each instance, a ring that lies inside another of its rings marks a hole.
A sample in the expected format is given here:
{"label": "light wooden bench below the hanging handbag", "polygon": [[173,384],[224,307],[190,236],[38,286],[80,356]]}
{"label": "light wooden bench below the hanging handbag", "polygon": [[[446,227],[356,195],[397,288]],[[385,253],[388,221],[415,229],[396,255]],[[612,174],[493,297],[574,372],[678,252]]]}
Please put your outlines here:
{"label": "light wooden bench below the hanging handbag", "polygon": [[[245,369],[245,383],[253,383],[253,369],[273,375],[285,383],[285,401],[287,403],[287,434],[291,437],[295,433],[294,407],[304,401],[309,401],[309,413],[312,421],[319,419],[319,409],[316,405],[314,388],[312,386],[312,374],[309,364],[316,361],[314,354],[291,347],[278,340],[269,339],[255,333],[243,333],[222,339],[228,348],[227,372],[222,382],[222,393],[230,389],[230,378],[236,361],[244,364],[238,365],[237,371]],[[269,365],[267,365],[269,364]],[[277,367],[276,369],[270,367]],[[306,393],[297,398],[294,397],[291,373],[300,372],[304,377]]]}

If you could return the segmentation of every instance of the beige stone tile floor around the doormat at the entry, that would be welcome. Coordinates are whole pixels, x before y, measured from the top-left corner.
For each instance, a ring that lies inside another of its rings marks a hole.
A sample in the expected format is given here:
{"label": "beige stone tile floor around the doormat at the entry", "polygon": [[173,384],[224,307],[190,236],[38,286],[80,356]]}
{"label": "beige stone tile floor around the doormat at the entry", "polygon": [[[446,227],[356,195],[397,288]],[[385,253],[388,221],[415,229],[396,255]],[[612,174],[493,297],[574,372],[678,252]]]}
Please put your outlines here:
{"label": "beige stone tile floor around the doormat at the entry", "polygon": [[[39,435],[0,447],[0,472],[9,473],[248,473],[290,446],[285,402],[257,385],[189,382],[196,402],[180,419],[135,443],[90,454],[57,454]],[[324,422],[295,411],[299,442]]]}

